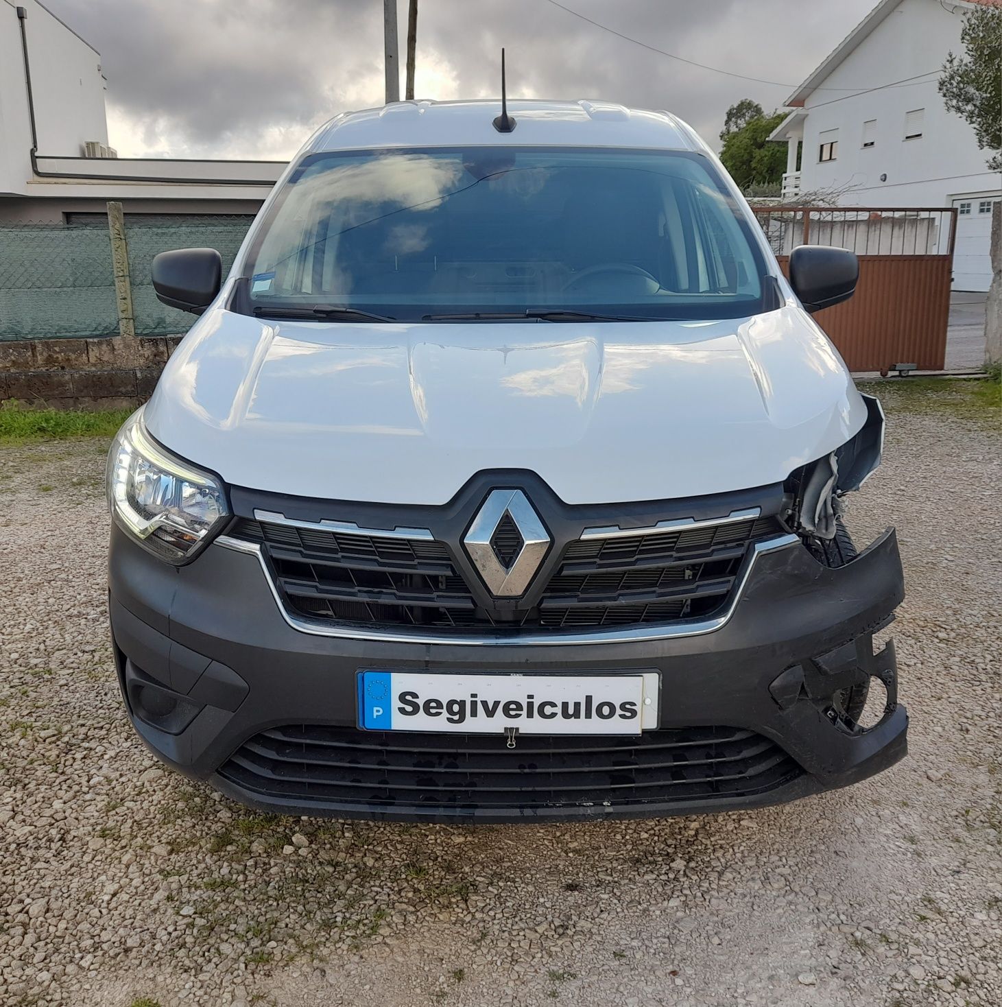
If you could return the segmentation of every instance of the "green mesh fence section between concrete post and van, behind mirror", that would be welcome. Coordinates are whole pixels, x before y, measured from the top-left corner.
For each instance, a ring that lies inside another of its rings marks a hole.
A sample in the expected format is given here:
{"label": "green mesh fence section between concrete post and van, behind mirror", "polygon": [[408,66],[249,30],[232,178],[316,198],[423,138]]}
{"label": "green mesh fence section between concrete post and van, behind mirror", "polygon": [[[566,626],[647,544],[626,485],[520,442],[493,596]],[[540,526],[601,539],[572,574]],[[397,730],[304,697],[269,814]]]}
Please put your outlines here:
{"label": "green mesh fence section between concrete post and van, behind mirror", "polygon": [[171,249],[208,248],[223,256],[223,275],[237,256],[253,217],[160,217],[144,221],[126,214],[132,312],[136,335],[175,335],[186,332],[194,316],[161,304],[150,283],[153,257]]}

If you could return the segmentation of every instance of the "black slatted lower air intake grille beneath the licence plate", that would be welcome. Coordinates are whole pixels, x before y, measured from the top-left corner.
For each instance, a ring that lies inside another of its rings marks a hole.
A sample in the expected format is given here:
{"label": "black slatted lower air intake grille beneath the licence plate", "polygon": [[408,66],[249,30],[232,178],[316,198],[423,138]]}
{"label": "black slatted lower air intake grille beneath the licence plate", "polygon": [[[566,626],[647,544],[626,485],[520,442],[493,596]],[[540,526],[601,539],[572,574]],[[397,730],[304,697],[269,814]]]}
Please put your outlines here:
{"label": "black slatted lower air intake grille beneath the licence plate", "polygon": [[801,774],[754,731],[688,727],[630,737],[263,731],[220,770],[246,792],[343,809],[550,809],[751,798]]}

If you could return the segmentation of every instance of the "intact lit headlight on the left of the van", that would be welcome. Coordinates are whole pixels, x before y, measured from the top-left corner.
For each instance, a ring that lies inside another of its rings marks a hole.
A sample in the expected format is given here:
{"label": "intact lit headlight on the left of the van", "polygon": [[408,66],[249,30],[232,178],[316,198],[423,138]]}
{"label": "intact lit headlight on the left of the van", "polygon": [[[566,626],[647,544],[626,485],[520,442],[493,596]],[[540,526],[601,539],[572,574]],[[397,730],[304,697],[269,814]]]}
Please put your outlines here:
{"label": "intact lit headlight on the left of the van", "polygon": [[108,455],[112,517],[151,553],[186,563],[230,516],[214,476],[168,454],[146,432],[142,410],[125,421]]}

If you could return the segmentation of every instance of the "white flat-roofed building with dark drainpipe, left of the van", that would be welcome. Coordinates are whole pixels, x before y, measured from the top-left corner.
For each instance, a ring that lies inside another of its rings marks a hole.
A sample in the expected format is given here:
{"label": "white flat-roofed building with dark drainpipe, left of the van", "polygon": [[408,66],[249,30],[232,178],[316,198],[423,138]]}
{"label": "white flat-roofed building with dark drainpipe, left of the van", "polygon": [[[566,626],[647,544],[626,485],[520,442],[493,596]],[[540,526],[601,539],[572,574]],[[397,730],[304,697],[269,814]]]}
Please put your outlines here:
{"label": "white flat-roofed building with dark drainpipe, left of the van", "polygon": [[37,0],[0,0],[0,224],[59,222],[109,199],[134,213],[255,213],[278,161],[119,158],[101,55]]}

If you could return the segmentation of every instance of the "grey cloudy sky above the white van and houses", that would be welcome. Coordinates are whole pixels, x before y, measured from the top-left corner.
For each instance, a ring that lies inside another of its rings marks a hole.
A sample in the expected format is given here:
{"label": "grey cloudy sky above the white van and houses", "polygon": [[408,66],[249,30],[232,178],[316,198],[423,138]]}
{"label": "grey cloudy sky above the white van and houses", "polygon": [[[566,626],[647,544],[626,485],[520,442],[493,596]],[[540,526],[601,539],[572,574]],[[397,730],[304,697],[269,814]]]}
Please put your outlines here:
{"label": "grey cloudy sky above the white van and houses", "polygon": [[[332,115],[383,102],[381,0],[45,2],[101,52],[124,157],[287,158]],[[420,0],[415,90],[496,96],[504,45],[511,96],[670,109],[716,142],[729,105],[781,106],[874,2],[560,0],[666,52],[773,82],[759,83],[651,51],[552,0]],[[406,27],[400,0],[402,42]]]}

